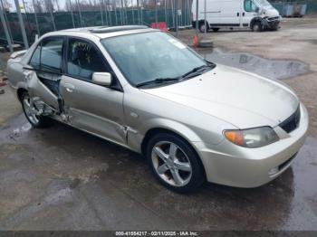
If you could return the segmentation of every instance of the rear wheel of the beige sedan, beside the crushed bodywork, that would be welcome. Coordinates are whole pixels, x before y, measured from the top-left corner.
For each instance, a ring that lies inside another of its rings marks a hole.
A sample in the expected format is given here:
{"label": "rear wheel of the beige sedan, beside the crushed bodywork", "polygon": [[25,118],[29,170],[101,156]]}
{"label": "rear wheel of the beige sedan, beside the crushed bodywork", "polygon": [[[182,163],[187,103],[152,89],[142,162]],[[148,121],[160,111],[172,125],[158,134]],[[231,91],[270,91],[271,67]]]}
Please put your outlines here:
{"label": "rear wheel of the beige sedan, beside the crushed bodywork", "polygon": [[34,128],[46,128],[51,125],[51,121],[41,115],[37,115],[38,109],[34,106],[27,91],[24,91],[20,98],[24,115]]}

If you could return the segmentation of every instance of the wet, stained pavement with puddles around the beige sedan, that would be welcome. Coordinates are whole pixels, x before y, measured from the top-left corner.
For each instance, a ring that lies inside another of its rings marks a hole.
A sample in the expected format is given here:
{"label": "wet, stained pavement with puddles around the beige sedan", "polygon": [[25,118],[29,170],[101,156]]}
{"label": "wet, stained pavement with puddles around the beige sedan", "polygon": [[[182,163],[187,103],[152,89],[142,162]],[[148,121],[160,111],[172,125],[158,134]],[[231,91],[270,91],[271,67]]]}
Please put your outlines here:
{"label": "wet, stained pavement with puddles around the beige sedan", "polygon": [[[180,33],[191,43],[193,31]],[[278,32],[208,33],[208,59],[283,79],[311,115],[293,166],[254,189],[204,185],[195,194],[160,186],[144,158],[62,124],[37,130],[14,96],[0,95],[0,230],[317,231],[317,18]]]}

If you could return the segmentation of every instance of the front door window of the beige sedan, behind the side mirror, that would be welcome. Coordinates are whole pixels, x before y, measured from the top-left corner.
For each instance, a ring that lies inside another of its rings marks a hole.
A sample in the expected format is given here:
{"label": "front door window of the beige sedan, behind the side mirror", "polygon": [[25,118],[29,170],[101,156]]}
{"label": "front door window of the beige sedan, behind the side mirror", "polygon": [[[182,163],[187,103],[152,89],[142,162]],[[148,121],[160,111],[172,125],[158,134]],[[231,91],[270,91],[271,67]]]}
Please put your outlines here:
{"label": "front door window of the beige sedan, behind the side mirror", "polygon": [[92,73],[109,72],[101,54],[91,43],[69,40],[67,72],[70,76],[91,81]]}

